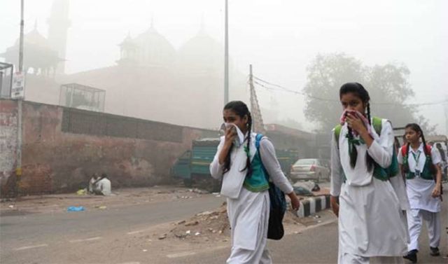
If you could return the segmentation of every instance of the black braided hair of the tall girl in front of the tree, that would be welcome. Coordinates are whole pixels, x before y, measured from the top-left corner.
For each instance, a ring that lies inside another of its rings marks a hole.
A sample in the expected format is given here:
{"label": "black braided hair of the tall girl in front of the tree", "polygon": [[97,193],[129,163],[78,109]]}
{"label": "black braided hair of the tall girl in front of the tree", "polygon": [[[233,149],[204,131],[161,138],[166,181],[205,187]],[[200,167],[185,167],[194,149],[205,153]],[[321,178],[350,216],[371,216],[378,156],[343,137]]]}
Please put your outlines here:
{"label": "black braided hair of the tall girl in front of the tree", "polygon": [[[356,95],[357,97],[359,97],[359,99],[361,99],[361,101],[363,101],[363,104],[366,105],[367,120],[369,120],[369,124],[372,125],[372,122],[370,120],[371,118],[370,118],[370,95],[369,95],[369,92],[367,92],[367,90],[365,90],[364,86],[361,85],[360,83],[345,83],[339,89],[339,99],[342,99],[342,95],[346,95],[350,92],[353,93],[354,95]],[[348,127],[348,129],[349,129],[348,137],[349,137],[349,139],[353,139],[353,134],[352,134],[351,128]],[[354,168],[356,166],[357,158],[358,158],[358,151],[356,151],[356,147],[353,146],[352,151],[350,152],[350,166],[352,168]],[[367,170],[369,172],[372,172],[372,169],[374,169],[375,162],[372,159],[372,157],[370,157],[369,153],[365,153],[365,162],[367,163]]]}

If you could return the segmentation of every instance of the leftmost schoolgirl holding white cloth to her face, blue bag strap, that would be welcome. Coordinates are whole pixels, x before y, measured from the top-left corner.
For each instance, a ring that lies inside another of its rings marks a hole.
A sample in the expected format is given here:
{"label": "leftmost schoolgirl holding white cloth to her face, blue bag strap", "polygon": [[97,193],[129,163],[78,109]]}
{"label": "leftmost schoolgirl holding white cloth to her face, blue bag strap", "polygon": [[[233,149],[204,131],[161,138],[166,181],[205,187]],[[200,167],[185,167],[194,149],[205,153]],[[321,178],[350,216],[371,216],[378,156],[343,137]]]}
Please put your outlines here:
{"label": "leftmost schoolgirl holding white cloth to her face, blue bag strap", "polygon": [[232,228],[232,251],[227,263],[272,263],[266,249],[269,183],[262,166],[274,184],[288,194],[293,209],[298,209],[300,202],[281,171],[274,146],[267,137],[260,139],[258,152],[257,134],[251,131],[252,117],[246,104],[229,102],[224,107],[223,118],[225,136],[221,137],[210,172],[215,179],[223,179],[221,194],[227,197]]}

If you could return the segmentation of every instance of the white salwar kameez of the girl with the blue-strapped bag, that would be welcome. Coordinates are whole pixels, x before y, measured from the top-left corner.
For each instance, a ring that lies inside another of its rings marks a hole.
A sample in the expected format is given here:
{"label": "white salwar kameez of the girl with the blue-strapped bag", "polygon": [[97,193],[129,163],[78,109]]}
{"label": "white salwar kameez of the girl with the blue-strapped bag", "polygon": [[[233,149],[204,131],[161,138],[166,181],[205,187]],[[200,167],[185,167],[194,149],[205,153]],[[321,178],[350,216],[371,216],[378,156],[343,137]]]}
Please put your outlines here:
{"label": "white salwar kameez of the girl with the blue-strapped bag", "polygon": [[[251,134],[251,158],[256,151],[255,135],[255,133]],[[216,179],[223,178],[221,194],[227,197],[228,216],[232,229],[232,251],[227,263],[272,263],[269,251],[266,249],[269,193],[267,190],[255,193],[243,187],[246,170],[242,172],[241,170],[246,167],[246,153],[244,153],[246,142],[239,148],[233,148],[230,153],[230,171],[223,174],[223,165],[219,164],[218,157],[224,141],[225,138],[221,137],[218,151],[210,165],[210,172]],[[291,193],[293,187],[281,171],[274,146],[266,137],[260,141],[260,156],[274,184],[284,193]]]}

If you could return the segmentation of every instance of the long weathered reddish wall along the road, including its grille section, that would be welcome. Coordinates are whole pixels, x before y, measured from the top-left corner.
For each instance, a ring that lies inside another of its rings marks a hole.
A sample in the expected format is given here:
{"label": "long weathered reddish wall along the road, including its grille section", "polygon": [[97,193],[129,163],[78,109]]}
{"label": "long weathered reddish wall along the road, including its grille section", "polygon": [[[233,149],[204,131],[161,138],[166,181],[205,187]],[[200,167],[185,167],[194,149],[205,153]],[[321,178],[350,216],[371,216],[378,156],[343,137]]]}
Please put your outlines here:
{"label": "long weathered reddish wall along the road, including its grille section", "polygon": [[[1,159],[7,161],[0,163],[3,186],[15,164],[17,106],[10,100],[0,102]],[[22,194],[78,190],[93,172],[106,172],[113,188],[167,182],[172,164],[193,139],[216,135],[211,130],[33,102],[24,102],[22,111]],[[8,151],[3,153],[3,148]]]}

